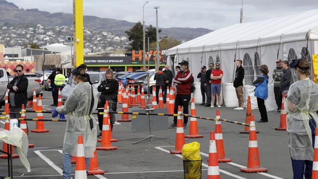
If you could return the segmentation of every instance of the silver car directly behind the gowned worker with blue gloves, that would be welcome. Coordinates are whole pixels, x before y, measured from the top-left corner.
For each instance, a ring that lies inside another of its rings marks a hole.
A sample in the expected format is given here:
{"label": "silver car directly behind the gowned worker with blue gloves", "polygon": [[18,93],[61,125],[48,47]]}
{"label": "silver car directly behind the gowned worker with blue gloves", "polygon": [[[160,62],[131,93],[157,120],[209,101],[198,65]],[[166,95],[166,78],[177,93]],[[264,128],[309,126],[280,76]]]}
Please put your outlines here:
{"label": "silver car directly behind the gowned worker with blue gloves", "polygon": [[[97,91],[97,87],[102,83],[102,81],[106,79],[105,72],[87,71],[86,73],[90,75],[91,83],[93,83],[92,85],[93,91],[99,98],[100,92]],[[63,104],[68,99],[69,93],[74,89],[74,87],[75,87],[75,84],[72,83],[72,78],[69,78],[65,87],[61,91]]]}

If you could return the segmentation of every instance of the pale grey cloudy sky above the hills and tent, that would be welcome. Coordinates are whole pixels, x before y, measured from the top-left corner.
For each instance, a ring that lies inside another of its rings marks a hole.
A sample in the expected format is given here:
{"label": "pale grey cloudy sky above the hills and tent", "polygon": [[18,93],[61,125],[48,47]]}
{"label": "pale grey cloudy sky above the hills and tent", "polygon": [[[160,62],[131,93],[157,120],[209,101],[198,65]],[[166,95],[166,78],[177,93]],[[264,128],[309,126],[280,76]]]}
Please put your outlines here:
{"label": "pale grey cloudy sky above the hills and tent", "polygon": [[[72,0],[8,0],[20,8],[72,13]],[[219,29],[240,21],[241,0],[148,0],[145,23],[160,27]],[[83,0],[84,15],[142,21],[146,0]],[[243,0],[243,22],[259,21],[318,8],[318,0]]]}

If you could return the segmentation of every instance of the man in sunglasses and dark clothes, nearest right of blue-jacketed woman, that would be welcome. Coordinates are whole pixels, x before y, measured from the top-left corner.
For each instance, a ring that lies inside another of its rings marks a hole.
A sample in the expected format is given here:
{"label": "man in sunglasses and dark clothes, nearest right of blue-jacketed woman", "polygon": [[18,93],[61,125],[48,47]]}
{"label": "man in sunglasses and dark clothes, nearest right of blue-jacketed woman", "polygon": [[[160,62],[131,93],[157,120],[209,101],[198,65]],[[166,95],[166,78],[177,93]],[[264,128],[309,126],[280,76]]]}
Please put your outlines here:
{"label": "man in sunglasses and dark clothes, nearest right of blue-jacketed woman", "polygon": [[277,112],[281,111],[282,106],[282,98],[283,95],[279,90],[280,80],[282,78],[284,72],[284,68],[282,67],[282,60],[276,60],[276,68],[273,71],[273,80],[274,80],[274,94],[275,94],[275,101],[277,105]]}

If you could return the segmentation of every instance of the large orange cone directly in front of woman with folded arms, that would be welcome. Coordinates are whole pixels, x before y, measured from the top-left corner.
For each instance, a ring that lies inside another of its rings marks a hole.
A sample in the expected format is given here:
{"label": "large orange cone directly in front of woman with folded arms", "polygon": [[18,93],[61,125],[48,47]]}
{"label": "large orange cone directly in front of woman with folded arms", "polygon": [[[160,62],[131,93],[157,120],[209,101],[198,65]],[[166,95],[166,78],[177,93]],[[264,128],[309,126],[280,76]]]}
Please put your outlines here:
{"label": "large orange cone directly in front of woman with folded arms", "polygon": [[[106,104],[104,105],[104,109],[107,110]],[[108,114],[104,113],[103,117],[103,129],[102,129],[102,140],[101,140],[101,146],[96,147],[96,150],[104,150],[104,151],[109,151],[109,150],[116,150],[117,147],[112,147],[112,142],[111,142],[111,128],[110,124],[108,122]]]}

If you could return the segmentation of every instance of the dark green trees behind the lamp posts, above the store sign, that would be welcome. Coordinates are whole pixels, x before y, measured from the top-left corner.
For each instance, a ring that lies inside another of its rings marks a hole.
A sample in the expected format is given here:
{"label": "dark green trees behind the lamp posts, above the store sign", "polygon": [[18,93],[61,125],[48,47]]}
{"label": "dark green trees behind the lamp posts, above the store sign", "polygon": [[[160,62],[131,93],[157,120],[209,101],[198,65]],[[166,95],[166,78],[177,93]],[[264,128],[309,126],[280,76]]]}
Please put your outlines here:
{"label": "dark green trees behind the lamp posts, above the store sign", "polygon": [[[159,30],[159,33],[160,32],[161,30]],[[131,47],[129,47],[128,50],[142,50],[143,39],[141,22],[137,22],[133,28],[131,28],[129,31],[125,31],[125,33],[128,35],[129,41],[131,41]],[[149,27],[147,27],[147,31],[145,32],[146,46],[148,45],[147,37],[149,37],[149,44],[151,44],[152,42],[156,42],[156,35],[156,27],[149,25]]]}

